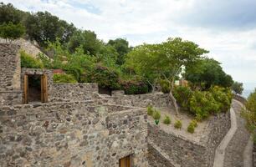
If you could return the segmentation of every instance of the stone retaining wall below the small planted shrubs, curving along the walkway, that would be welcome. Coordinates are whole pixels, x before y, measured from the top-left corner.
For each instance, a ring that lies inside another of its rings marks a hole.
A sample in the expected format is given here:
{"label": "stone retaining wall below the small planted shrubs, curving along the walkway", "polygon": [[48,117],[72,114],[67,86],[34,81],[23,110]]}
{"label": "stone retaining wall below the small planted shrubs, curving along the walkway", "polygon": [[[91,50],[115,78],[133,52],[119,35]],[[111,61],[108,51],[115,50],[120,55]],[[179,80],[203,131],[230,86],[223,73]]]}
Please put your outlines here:
{"label": "stone retaining wall below the small planted shrubs, curving along the walkway", "polygon": [[[177,136],[177,134],[168,134],[159,129],[158,126],[148,124],[148,139],[151,144],[155,144],[156,147],[167,154],[169,159],[166,160],[172,162],[174,166],[211,167],[215,149],[230,128],[229,113],[212,117],[207,126],[207,129],[210,130],[206,132],[200,142],[195,142],[182,136]],[[156,152],[153,154],[156,154]],[[149,161],[156,161],[155,163],[158,164],[162,162],[162,157],[160,159],[151,159],[149,156]]]}

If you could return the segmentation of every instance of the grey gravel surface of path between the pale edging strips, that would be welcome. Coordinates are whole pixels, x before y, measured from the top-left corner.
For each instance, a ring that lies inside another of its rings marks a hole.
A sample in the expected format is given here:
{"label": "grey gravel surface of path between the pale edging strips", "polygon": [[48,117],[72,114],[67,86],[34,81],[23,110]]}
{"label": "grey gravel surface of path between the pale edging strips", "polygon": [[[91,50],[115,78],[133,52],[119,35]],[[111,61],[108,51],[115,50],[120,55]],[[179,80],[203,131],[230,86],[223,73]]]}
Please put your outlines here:
{"label": "grey gravel surface of path between the pale edging strips", "polygon": [[[250,134],[245,129],[245,120],[241,118],[240,110],[241,104],[233,100],[233,110],[236,114],[237,127],[233,138],[228,143],[228,147],[225,150],[224,167],[243,167],[243,152],[248,144]],[[250,156],[250,155],[248,155]]]}

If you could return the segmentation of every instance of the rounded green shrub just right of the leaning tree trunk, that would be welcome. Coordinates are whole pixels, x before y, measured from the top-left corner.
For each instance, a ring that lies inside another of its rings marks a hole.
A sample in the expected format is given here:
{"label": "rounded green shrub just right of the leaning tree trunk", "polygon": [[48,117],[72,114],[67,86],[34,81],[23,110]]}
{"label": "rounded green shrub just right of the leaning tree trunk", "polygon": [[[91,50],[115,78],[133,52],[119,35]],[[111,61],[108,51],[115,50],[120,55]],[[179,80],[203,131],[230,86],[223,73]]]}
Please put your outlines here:
{"label": "rounded green shrub just right of the leaning tree trunk", "polygon": [[186,110],[189,110],[189,99],[192,98],[192,94],[192,89],[189,87],[177,86],[173,90],[173,96],[177,99],[177,104]]}

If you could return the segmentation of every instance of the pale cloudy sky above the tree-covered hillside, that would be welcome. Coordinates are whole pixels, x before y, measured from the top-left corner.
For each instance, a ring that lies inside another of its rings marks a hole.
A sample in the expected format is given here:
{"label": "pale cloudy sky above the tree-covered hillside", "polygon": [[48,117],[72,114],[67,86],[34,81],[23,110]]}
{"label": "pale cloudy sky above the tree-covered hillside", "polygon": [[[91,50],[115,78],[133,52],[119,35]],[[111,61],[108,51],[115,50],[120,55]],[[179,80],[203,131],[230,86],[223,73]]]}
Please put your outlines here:
{"label": "pale cloudy sky above the tree-covered hillside", "polygon": [[245,89],[256,88],[256,0],[3,0],[49,11],[98,38],[132,46],[181,37],[206,48]]}

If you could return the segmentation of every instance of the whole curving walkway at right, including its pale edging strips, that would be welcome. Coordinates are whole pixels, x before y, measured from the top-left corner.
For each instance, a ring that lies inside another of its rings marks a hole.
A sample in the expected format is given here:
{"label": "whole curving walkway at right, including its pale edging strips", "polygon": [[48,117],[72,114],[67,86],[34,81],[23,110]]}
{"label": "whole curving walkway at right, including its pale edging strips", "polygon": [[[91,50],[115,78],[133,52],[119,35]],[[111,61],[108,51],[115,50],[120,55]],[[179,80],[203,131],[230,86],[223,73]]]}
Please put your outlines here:
{"label": "whole curving walkway at right, including its pale edging strips", "polygon": [[245,120],[240,110],[243,104],[233,100],[231,129],[224,137],[215,154],[214,167],[252,167],[252,142],[245,128]]}

